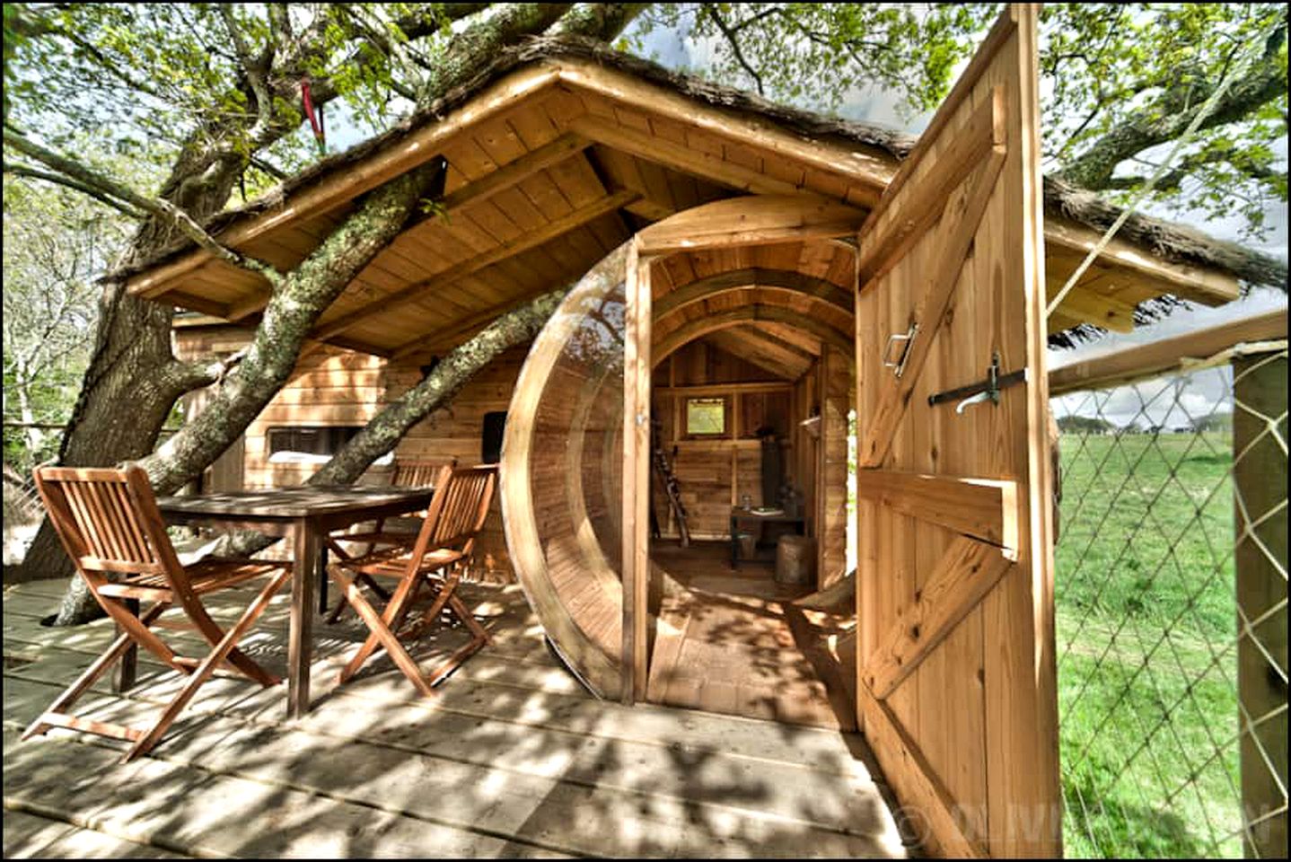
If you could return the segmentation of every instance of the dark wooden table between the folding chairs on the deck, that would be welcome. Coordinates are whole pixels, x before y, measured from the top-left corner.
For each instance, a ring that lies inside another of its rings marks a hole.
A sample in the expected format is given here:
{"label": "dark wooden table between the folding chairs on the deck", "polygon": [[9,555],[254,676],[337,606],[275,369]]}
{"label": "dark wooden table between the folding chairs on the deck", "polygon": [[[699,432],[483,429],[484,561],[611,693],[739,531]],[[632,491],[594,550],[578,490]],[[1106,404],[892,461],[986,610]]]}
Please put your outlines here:
{"label": "dark wooden table between the folding chairs on the deck", "polygon": [[158,507],[174,524],[248,529],[292,538],[294,572],[287,646],[287,715],[294,719],[310,707],[311,608],[315,576],[323,563],[323,538],[350,524],[426,508],[432,496],[432,488],[320,485],[161,497]]}

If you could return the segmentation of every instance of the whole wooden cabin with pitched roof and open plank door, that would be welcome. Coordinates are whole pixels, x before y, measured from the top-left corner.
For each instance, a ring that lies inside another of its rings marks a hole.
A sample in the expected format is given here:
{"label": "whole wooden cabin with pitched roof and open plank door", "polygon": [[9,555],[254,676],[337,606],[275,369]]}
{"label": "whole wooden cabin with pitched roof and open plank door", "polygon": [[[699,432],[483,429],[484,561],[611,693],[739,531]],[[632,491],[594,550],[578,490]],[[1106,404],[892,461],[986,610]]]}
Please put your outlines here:
{"label": "whole wooden cabin with pitched roof and open plank door", "polygon": [[[1238,281],[1219,244],[1133,216],[1047,310],[1114,216],[1041,177],[1037,92],[1028,8],[918,142],[602,46],[509,53],[212,226],[288,270],[364,192],[447,161],[440,214],[349,285],[208,481],[302,481],[281,453],[325,454],[500,314],[577,283],[394,453],[488,459],[502,422],[485,568],[520,581],[571,671],[627,702],[860,728],[928,849],[1051,854],[1046,345]],[[198,314],[177,320],[187,355],[235,350],[269,299],[191,246],[128,285]],[[795,604],[847,574],[853,410],[855,599]],[[763,493],[764,461],[799,494],[808,583],[731,565],[732,507],[791,499]]]}

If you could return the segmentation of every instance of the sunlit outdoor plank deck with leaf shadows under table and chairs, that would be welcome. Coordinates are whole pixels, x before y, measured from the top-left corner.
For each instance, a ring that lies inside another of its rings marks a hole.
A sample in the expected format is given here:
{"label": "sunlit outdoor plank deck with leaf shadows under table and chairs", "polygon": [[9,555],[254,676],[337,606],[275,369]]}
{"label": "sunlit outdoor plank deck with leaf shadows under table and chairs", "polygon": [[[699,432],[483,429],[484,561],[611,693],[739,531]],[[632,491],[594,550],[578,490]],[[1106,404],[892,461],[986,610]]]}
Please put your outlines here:
{"label": "sunlit outdoor plank deck with leaf shadows under table and chairs", "polygon": [[[111,636],[44,628],[61,582],[5,588],[6,857],[529,857],[906,854],[856,734],[598,702],[553,659],[515,586],[467,587],[497,643],[434,699],[386,661],[336,690],[363,634],[315,627],[314,708],[283,687],[205,685],[154,752],[54,732],[18,742]],[[285,666],[285,596],[244,640]],[[227,609],[226,609],[227,612]],[[460,632],[427,637],[432,661]],[[99,716],[151,710],[177,675],[141,659]]]}

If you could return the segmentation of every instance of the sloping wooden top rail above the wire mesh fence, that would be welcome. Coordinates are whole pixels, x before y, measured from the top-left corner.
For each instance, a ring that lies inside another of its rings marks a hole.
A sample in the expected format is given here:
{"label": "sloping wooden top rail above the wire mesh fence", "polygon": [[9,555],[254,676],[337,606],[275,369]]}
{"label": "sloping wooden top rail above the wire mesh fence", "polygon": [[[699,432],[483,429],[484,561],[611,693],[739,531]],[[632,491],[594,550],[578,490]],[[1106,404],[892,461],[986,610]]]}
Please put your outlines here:
{"label": "sloping wooden top rail above the wire mesh fence", "polygon": [[1243,342],[1277,341],[1287,337],[1287,310],[1278,308],[1251,317],[1163,338],[1150,345],[1118,350],[1050,372],[1050,395],[1108,388],[1181,369],[1185,360],[1201,360]]}

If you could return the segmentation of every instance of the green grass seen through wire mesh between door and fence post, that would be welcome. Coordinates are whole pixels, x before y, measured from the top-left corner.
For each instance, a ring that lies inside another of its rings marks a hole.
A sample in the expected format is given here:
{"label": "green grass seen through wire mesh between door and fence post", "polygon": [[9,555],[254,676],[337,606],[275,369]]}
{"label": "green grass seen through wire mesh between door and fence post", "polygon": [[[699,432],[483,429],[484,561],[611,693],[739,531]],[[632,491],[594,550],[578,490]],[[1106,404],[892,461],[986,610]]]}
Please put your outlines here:
{"label": "green grass seen through wire mesh between door and fence post", "polygon": [[1064,435],[1070,857],[1241,856],[1232,436]]}

